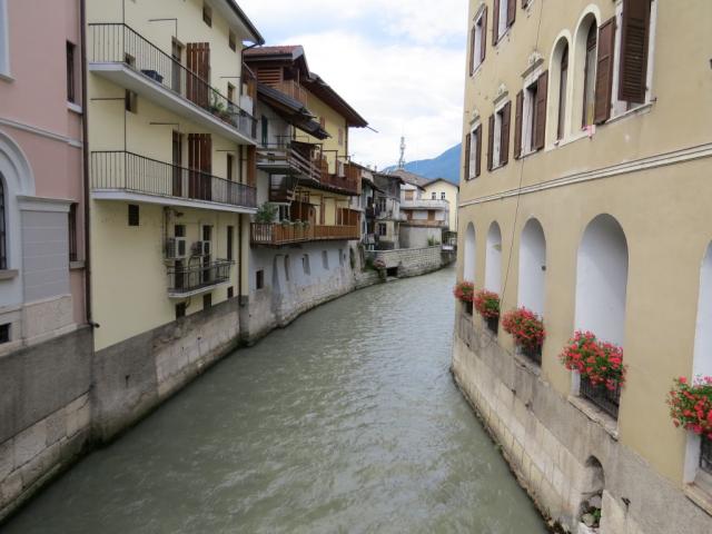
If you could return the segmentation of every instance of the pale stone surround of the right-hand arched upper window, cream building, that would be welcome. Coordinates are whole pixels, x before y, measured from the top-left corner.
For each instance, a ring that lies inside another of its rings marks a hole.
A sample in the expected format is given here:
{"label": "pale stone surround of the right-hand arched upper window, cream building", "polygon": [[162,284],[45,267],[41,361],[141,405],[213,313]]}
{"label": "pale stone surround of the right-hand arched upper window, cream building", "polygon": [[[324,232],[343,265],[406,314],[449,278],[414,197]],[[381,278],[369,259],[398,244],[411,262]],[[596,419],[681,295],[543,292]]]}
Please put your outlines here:
{"label": "pale stone surround of the right-hand arched upper window, cream building", "polygon": [[[573,56],[570,56],[568,69],[571,70],[572,83],[572,98],[571,98],[571,123],[568,125],[570,131],[580,131],[582,129],[584,119],[584,91],[585,91],[585,78],[586,78],[586,49],[589,41],[589,32],[595,31],[596,39],[599,32],[599,26],[601,26],[601,11],[596,6],[587,6],[581,14],[578,23],[576,24],[576,32],[573,43]],[[594,60],[592,63],[592,70],[594,72],[593,79],[590,80],[595,88],[595,66],[597,47],[594,50]],[[573,59],[573,61],[572,61]],[[595,91],[594,97],[595,100]]]}

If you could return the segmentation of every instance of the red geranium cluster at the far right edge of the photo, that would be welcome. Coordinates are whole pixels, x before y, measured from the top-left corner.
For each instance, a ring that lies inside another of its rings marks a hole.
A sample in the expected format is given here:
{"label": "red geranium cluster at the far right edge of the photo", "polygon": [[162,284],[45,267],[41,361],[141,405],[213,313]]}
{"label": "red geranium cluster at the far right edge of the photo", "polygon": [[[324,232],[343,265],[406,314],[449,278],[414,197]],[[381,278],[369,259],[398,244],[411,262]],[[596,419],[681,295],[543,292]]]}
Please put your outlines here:
{"label": "red geranium cluster at the far right edge of the photo", "polygon": [[698,377],[690,384],[684,376],[675,380],[668,395],[670,416],[675,426],[712,439],[712,377]]}

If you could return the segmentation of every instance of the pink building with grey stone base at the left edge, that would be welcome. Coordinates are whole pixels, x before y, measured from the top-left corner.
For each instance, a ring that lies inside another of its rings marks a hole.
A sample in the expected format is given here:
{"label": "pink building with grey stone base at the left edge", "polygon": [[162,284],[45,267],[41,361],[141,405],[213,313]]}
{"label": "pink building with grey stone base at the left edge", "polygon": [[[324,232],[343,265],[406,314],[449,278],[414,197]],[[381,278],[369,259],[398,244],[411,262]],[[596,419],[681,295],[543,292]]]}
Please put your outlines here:
{"label": "pink building with grey stone base at the left edge", "polygon": [[89,435],[81,0],[0,0],[0,520]]}

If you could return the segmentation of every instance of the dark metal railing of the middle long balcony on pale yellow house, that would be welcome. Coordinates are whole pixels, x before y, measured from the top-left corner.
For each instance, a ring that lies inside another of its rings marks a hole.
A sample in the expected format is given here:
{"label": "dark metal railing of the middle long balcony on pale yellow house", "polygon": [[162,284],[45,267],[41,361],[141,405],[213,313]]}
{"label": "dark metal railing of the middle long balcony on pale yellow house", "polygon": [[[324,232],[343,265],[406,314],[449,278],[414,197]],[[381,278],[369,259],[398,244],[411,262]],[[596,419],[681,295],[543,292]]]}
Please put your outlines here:
{"label": "dark metal railing of the middle long balcony on pale yellow house", "polygon": [[254,187],[127,151],[91,152],[91,189],[257,206]]}

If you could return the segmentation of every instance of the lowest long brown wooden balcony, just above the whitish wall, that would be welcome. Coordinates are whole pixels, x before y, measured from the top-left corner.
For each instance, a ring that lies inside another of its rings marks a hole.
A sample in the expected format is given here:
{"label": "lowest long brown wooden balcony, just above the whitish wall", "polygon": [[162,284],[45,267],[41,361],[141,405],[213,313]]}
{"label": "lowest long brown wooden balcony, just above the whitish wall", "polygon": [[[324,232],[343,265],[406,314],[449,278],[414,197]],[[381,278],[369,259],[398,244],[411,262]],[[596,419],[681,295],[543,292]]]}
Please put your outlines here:
{"label": "lowest long brown wooden balcony, just above the whitish wall", "polygon": [[358,240],[358,226],[298,226],[254,222],[250,228],[253,245],[278,247],[306,241]]}

